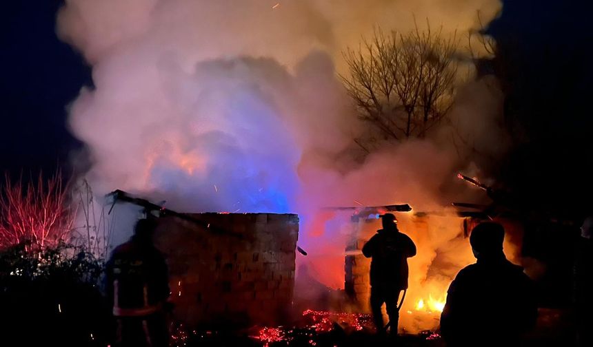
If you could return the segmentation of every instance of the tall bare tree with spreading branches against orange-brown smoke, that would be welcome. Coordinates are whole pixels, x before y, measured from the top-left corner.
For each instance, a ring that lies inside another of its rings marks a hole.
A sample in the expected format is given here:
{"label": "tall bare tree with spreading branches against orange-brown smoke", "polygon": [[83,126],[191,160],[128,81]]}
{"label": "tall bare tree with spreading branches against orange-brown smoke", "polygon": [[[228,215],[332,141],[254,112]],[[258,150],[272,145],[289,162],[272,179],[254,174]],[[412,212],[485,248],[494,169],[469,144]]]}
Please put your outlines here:
{"label": "tall bare tree with spreading branches against orange-brown smoke", "polygon": [[[359,117],[373,125],[364,142],[423,137],[453,104],[456,36],[441,31],[374,32],[358,50],[343,52],[349,75],[341,76]],[[363,141],[357,140],[361,147]],[[365,148],[366,149],[366,148]]]}

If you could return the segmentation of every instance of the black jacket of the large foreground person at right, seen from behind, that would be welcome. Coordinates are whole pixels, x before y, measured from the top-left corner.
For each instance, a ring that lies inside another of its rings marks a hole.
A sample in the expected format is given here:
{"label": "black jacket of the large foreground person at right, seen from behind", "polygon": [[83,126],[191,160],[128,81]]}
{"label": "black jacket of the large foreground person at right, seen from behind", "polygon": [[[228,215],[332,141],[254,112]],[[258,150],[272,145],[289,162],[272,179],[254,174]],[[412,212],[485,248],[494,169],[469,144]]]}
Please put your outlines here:
{"label": "black jacket of the large foreground person at right, seen from behind", "polygon": [[535,292],[521,266],[501,253],[459,271],[441,315],[448,346],[518,346],[536,322]]}

